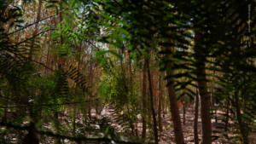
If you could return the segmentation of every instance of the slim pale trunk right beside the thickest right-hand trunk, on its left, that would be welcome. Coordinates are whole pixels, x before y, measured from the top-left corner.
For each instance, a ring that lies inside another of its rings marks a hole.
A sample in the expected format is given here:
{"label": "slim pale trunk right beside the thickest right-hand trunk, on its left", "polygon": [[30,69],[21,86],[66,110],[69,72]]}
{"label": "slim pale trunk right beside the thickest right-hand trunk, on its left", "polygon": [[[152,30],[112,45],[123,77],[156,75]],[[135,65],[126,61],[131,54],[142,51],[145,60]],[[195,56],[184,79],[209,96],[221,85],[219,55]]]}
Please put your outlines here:
{"label": "slim pale trunk right beside the thickest right-hand trunk, on its left", "polygon": [[195,141],[195,144],[199,144],[199,141],[198,141],[198,132],[197,132],[197,123],[198,123],[198,101],[199,101],[199,92],[198,92],[198,88],[196,88],[196,95],[195,95],[195,119],[194,119],[194,141]]}

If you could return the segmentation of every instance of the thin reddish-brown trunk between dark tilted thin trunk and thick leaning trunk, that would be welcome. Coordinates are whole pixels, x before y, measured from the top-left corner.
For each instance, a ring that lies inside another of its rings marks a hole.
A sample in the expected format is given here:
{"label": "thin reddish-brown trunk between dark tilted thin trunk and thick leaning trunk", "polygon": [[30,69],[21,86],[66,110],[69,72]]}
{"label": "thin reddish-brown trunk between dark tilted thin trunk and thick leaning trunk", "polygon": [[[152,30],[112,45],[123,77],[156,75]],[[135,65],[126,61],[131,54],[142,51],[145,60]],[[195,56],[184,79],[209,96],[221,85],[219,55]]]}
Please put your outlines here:
{"label": "thin reddish-brown trunk between dark tilted thin trunk and thick leaning trunk", "polygon": [[160,132],[163,131],[162,118],[161,118],[161,106],[162,106],[161,101],[162,101],[162,79],[159,73],[158,125],[159,125]]}

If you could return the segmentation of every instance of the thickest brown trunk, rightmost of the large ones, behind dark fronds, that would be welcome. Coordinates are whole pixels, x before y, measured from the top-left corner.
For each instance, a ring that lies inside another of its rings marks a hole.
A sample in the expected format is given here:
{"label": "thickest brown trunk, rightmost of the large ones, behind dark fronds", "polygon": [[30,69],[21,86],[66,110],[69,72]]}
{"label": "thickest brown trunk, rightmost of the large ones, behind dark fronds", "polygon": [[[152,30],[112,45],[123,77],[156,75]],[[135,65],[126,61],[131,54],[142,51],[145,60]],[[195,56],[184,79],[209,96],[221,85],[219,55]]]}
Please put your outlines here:
{"label": "thickest brown trunk, rightmost of the large ones, behind dark fronds", "polygon": [[[198,32],[195,30],[195,47],[200,47],[201,43],[198,42],[198,39],[201,38],[202,32]],[[206,76],[206,68],[204,60],[202,59],[204,55],[197,51],[196,54],[198,55],[195,57],[196,62],[196,69],[201,72],[197,74],[198,80],[198,87],[199,87],[199,94],[201,96],[201,126],[202,126],[202,144],[209,144],[212,143],[212,123],[211,123],[211,116],[210,116],[210,99],[207,92],[207,76]]]}

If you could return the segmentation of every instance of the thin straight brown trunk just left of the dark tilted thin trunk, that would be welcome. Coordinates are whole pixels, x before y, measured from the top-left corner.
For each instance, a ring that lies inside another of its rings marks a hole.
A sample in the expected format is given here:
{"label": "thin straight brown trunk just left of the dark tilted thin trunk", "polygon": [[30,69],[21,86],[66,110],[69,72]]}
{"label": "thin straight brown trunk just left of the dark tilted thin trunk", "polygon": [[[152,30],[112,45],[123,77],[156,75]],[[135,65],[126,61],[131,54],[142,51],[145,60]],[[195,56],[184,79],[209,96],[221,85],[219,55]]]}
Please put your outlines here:
{"label": "thin straight brown trunk just left of the dark tilted thin trunk", "polygon": [[146,83],[146,75],[147,73],[147,65],[146,65],[146,57],[144,56],[144,66],[143,66],[143,134],[142,139],[146,138],[146,131],[147,131],[147,124],[146,124],[146,89],[147,89],[147,83]]}

